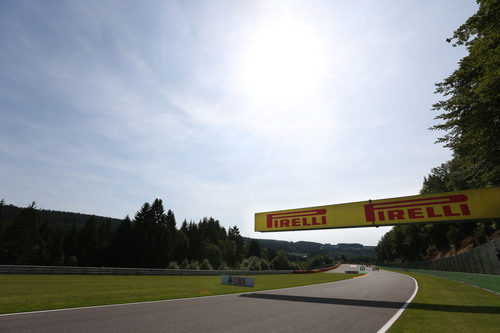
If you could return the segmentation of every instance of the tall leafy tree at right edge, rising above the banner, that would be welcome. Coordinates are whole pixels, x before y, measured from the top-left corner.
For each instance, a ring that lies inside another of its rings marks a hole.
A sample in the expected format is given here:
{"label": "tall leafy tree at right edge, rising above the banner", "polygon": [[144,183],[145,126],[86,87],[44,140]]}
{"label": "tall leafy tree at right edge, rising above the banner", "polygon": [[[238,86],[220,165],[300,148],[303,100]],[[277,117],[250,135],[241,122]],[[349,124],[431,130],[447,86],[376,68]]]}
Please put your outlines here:
{"label": "tall leafy tree at right edge, rising above the banner", "polygon": [[468,55],[436,93],[448,97],[433,105],[446,133],[438,142],[453,150],[455,173],[463,188],[500,184],[500,0],[477,0],[478,11],[447,39]]}

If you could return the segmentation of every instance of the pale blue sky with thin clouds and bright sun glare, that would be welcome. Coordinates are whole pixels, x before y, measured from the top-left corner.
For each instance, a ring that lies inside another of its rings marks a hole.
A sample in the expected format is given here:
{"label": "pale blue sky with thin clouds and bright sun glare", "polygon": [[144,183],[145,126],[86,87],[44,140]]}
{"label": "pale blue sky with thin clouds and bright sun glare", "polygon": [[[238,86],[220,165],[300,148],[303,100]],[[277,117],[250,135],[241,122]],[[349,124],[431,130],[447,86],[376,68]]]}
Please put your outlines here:
{"label": "pale blue sky with thin clouds and bright sun glare", "polygon": [[0,1],[0,198],[114,218],[161,198],[254,213],[418,194],[451,157],[434,84],[474,1]]}

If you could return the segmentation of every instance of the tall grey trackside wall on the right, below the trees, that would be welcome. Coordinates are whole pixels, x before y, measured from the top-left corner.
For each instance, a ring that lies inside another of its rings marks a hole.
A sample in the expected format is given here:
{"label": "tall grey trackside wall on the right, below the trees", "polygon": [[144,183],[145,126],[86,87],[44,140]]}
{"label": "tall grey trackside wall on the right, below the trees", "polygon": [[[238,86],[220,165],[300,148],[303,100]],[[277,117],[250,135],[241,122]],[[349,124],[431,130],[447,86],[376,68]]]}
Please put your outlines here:
{"label": "tall grey trackside wall on the right, below the trees", "polygon": [[446,258],[402,263],[386,266],[462,273],[500,275],[500,238],[475,247],[467,252]]}

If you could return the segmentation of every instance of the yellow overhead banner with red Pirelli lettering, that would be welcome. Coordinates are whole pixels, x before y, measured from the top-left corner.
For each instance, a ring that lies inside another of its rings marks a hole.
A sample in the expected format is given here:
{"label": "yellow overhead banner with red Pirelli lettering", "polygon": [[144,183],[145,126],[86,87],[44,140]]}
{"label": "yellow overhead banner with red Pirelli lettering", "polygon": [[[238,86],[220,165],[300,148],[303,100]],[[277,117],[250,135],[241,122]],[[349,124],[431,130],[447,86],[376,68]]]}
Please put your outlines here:
{"label": "yellow overhead banner with red Pirelli lettering", "polygon": [[500,218],[500,187],[255,214],[255,231],[373,227]]}

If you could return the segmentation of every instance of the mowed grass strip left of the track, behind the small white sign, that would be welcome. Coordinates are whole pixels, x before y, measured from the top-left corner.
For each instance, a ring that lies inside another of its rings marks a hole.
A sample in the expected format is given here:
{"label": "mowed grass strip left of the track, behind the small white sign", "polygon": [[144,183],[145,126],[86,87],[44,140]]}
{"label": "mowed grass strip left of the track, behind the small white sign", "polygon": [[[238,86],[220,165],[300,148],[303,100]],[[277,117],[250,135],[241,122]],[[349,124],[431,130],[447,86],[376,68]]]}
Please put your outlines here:
{"label": "mowed grass strip left of the track, behind the small white sign", "polygon": [[221,285],[220,276],[0,275],[0,313],[252,292],[354,276],[315,273],[252,277],[253,288]]}

